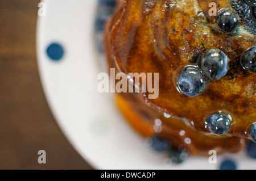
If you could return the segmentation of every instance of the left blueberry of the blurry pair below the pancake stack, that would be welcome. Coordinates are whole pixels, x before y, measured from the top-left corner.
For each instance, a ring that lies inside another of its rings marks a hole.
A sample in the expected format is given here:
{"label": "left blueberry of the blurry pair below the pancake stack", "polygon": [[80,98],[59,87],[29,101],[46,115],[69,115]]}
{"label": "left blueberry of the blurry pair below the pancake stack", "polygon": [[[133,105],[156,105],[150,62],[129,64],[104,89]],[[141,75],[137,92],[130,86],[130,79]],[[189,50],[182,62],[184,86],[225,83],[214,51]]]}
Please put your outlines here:
{"label": "left blueberry of the blurry pair below the pancake stack", "polygon": [[166,149],[171,148],[171,142],[168,141],[165,138],[162,138],[158,135],[152,137],[152,148],[154,148],[154,150],[156,151],[164,151]]}

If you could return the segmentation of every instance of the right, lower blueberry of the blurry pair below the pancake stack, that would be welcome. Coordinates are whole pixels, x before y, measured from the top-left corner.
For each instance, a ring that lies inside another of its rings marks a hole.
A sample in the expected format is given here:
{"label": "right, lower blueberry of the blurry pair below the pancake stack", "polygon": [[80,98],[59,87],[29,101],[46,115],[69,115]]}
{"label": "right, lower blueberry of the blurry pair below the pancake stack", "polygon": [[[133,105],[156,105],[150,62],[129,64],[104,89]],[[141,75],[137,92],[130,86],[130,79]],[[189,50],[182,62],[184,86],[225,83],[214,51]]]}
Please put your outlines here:
{"label": "right, lower blueberry of the blurry pair below the pancake stack", "polygon": [[181,163],[188,158],[188,150],[187,149],[180,150],[179,148],[172,148],[170,149],[169,158],[172,164]]}

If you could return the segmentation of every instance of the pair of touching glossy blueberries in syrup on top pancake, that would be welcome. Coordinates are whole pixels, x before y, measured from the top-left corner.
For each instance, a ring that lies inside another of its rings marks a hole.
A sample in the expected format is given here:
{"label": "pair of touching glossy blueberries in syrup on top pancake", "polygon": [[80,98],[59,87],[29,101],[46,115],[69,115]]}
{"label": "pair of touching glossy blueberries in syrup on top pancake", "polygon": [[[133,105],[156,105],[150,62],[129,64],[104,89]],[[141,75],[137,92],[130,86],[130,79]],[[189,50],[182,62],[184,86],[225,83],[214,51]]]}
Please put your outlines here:
{"label": "pair of touching glossy blueberries in syrup on top pancake", "polygon": [[211,48],[201,54],[197,65],[187,65],[180,71],[176,85],[184,95],[195,97],[202,94],[209,81],[217,81],[228,71],[228,57],[219,49]]}

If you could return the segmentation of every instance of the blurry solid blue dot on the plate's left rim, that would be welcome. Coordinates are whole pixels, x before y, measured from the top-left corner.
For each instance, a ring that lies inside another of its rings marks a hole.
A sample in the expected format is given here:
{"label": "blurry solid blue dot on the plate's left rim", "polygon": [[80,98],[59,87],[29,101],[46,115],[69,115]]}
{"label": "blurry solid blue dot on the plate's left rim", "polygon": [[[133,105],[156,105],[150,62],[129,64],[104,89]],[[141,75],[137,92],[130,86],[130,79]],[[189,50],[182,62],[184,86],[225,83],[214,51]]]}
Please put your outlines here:
{"label": "blurry solid blue dot on the plate's left rim", "polygon": [[46,53],[53,61],[59,61],[63,58],[64,49],[59,43],[52,43],[47,47]]}

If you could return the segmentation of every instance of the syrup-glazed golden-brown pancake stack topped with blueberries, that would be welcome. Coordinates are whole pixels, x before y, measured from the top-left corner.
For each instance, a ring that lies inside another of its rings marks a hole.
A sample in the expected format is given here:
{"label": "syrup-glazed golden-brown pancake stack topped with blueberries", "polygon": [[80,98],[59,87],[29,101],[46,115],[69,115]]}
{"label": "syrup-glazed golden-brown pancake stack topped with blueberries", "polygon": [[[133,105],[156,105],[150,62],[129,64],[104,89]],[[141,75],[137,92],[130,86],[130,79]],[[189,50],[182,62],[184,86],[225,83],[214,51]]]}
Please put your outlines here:
{"label": "syrup-glazed golden-brown pancake stack topped with blueberries", "polygon": [[[217,15],[213,15],[214,5]],[[159,74],[155,99],[149,99],[152,93],[148,90],[117,93],[117,104],[135,130],[146,137],[159,134],[196,155],[208,155],[213,149],[236,153],[253,140],[250,129],[256,119],[256,74],[241,57],[248,59],[246,52],[256,45],[254,5],[255,1],[242,0],[118,1],[105,25],[109,68],[115,68],[116,74]],[[226,27],[223,21],[229,10],[239,18]],[[225,55],[224,73],[209,75],[204,69],[210,50]],[[179,85],[179,76],[187,66],[205,77],[204,81],[200,78],[205,86],[196,85],[199,94],[186,94],[184,85]],[[137,84],[130,78],[127,82],[143,89],[142,79]],[[209,121],[216,115],[228,115],[226,132],[214,132],[213,122],[210,129]]]}

